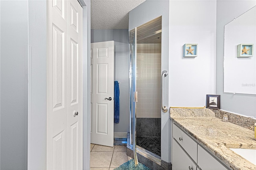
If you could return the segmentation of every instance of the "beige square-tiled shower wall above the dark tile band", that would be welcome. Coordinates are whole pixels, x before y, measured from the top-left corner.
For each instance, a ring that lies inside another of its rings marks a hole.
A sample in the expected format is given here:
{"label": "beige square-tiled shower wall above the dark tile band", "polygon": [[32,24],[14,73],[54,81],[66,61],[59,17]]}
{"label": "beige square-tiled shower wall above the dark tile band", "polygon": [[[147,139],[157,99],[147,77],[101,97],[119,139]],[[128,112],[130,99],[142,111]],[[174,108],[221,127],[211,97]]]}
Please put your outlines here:
{"label": "beige square-tiled shower wall above the dark tile band", "polygon": [[137,44],[138,118],[161,117],[161,44]]}

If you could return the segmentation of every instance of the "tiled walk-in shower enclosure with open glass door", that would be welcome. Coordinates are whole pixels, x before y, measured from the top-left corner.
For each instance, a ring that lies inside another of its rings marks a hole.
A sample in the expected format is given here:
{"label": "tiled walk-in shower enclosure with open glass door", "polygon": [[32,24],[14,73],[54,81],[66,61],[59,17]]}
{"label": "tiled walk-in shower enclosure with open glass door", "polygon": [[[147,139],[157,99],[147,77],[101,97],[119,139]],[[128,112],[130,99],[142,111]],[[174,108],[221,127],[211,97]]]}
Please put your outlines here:
{"label": "tiled walk-in shower enclosure with open glass door", "polygon": [[130,141],[161,158],[161,35],[162,17],[129,32]]}

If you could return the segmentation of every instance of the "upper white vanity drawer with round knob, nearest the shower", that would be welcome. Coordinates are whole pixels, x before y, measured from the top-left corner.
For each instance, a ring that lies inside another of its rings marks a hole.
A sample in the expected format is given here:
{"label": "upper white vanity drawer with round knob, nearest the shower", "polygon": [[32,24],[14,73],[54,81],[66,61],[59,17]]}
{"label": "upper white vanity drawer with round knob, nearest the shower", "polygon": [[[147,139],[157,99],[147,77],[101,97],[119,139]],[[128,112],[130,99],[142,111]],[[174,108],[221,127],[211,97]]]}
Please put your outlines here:
{"label": "upper white vanity drawer with round knob, nearest the shower", "polygon": [[173,124],[172,136],[190,157],[197,162],[197,143],[175,124]]}

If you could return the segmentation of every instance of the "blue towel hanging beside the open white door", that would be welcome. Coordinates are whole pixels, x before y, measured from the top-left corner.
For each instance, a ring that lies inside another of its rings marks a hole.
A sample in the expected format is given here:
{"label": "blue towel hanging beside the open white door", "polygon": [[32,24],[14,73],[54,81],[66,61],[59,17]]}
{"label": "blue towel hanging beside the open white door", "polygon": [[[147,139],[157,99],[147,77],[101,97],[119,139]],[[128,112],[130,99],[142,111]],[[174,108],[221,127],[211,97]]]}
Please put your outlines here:
{"label": "blue towel hanging beside the open white door", "polygon": [[119,123],[119,83],[114,81],[114,123]]}

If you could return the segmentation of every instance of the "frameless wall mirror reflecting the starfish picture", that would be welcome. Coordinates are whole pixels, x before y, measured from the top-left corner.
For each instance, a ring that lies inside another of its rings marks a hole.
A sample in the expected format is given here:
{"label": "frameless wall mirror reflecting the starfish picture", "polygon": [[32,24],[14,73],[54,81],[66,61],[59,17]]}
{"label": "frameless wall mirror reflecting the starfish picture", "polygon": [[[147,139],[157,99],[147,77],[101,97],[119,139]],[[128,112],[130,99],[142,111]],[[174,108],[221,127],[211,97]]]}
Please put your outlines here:
{"label": "frameless wall mirror reflecting the starfish picture", "polygon": [[256,94],[256,6],[224,27],[224,93]]}

